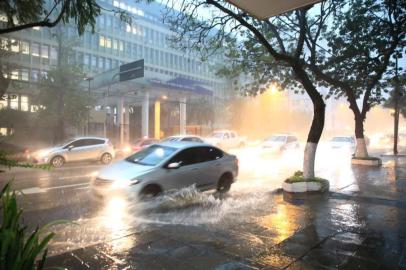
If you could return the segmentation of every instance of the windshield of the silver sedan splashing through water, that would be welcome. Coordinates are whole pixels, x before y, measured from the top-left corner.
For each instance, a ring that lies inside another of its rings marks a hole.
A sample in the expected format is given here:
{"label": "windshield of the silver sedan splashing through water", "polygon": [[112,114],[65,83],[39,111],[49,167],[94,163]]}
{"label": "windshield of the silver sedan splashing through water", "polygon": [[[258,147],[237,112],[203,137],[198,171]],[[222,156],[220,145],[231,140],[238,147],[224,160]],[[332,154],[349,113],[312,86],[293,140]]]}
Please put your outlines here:
{"label": "windshield of the silver sedan splashing through water", "polygon": [[129,156],[125,160],[135,164],[145,166],[155,166],[161,161],[171,156],[175,151],[176,148],[173,147],[152,145],[140,152],[135,153],[132,156]]}

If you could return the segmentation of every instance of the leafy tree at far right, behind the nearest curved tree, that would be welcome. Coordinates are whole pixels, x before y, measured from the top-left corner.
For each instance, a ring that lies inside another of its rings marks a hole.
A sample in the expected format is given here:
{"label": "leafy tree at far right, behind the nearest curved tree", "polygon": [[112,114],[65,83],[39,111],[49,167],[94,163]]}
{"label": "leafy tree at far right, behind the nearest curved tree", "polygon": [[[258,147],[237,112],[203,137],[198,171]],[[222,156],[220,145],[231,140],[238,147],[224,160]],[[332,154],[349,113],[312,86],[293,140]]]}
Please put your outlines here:
{"label": "leafy tree at far right, behind the nearest curved tree", "polygon": [[[384,82],[401,57],[406,34],[406,1],[353,0],[341,6],[329,31],[322,57],[310,55],[309,68],[336,98],[346,97],[354,113],[357,146],[355,157],[366,158],[364,121],[368,111],[383,101]],[[307,41],[306,42],[310,42]],[[323,85],[323,84],[322,84]],[[362,99],[362,107],[357,103]]]}

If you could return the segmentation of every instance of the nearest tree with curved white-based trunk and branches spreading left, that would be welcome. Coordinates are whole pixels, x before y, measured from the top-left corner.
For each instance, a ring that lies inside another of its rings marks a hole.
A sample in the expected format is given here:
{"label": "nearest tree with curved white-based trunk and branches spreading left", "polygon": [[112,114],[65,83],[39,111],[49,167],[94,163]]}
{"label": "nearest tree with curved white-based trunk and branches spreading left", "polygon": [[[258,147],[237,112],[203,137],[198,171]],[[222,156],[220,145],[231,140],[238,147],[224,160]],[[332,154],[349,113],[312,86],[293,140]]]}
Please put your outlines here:
{"label": "nearest tree with curved white-based trunk and branches spreading left", "polygon": [[[176,2],[176,3],[174,3]],[[307,137],[303,171],[305,178],[314,177],[314,161],[321,137],[325,103],[316,88],[313,75],[304,63],[307,47],[317,47],[318,37],[325,31],[327,18],[334,12],[336,1],[326,1],[311,7],[259,21],[243,10],[216,0],[168,1],[172,7],[165,14],[177,36],[177,46],[197,51],[205,59],[214,53],[226,52],[227,65],[223,74],[248,74],[253,83],[243,87],[256,95],[277,82],[284,88],[306,92],[313,106],[313,120]],[[176,12],[177,8],[180,12]],[[199,14],[205,14],[199,16]],[[308,17],[314,18],[312,24]],[[306,35],[310,44],[305,43]]]}

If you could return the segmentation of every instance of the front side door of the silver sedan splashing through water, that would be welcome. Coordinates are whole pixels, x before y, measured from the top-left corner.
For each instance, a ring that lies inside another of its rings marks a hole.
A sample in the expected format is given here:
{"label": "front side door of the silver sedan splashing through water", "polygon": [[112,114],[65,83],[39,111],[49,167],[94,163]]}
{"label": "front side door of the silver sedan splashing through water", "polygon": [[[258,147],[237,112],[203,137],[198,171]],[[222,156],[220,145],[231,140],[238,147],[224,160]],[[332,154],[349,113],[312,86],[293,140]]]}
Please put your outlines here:
{"label": "front side door of the silver sedan splashing through water", "polygon": [[200,185],[201,164],[199,164],[199,151],[196,148],[182,150],[171,158],[167,165],[179,163],[177,169],[166,169],[165,184],[169,189],[180,189],[193,184]]}

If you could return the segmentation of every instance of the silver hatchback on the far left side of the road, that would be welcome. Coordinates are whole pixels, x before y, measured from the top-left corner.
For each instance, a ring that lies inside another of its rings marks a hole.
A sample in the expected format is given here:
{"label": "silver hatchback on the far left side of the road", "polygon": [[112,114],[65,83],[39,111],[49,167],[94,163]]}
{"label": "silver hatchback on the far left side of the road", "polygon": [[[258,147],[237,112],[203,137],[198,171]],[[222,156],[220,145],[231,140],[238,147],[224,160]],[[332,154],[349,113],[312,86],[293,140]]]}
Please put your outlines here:
{"label": "silver hatchback on the far left side of the road", "polygon": [[66,162],[95,160],[108,164],[115,156],[109,139],[99,137],[81,137],[69,140],[59,146],[42,149],[33,154],[35,163],[49,163],[53,167],[62,167]]}

